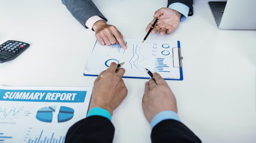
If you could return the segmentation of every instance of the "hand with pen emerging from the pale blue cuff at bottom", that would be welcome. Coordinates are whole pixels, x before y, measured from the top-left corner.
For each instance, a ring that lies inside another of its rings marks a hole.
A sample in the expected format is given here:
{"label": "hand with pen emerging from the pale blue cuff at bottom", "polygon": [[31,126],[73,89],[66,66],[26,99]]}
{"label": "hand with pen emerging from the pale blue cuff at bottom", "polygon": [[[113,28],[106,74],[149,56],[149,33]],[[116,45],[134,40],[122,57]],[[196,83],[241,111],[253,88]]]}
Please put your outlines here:
{"label": "hand with pen emerging from the pale blue cuff at bottom", "polygon": [[177,113],[176,98],[165,80],[153,73],[153,79],[145,83],[142,108],[147,121],[150,123],[153,117],[161,111],[171,110]]}

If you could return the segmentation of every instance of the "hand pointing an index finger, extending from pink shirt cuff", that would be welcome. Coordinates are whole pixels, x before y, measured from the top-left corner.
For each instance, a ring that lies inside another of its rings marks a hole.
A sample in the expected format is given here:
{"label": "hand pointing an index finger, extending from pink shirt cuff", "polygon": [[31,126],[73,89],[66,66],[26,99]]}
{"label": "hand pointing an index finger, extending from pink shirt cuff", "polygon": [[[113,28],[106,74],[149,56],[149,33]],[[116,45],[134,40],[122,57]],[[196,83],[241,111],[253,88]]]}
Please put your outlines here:
{"label": "hand pointing an index finger, extending from pink shirt cuff", "polygon": [[92,29],[95,31],[96,38],[101,45],[112,45],[120,43],[123,49],[127,49],[123,38],[124,36],[116,29],[115,26],[107,24],[105,21],[100,20],[94,23]]}

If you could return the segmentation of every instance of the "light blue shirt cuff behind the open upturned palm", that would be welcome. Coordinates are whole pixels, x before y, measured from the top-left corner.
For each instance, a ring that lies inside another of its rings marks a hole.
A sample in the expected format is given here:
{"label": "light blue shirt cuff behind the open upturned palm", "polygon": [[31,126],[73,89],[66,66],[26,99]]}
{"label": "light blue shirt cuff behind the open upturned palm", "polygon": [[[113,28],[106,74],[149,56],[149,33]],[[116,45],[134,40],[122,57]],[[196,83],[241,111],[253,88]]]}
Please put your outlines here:
{"label": "light blue shirt cuff behind the open upturned palm", "polygon": [[175,2],[173,4],[170,4],[168,8],[176,10],[182,14],[182,16],[180,17],[180,22],[186,20],[186,17],[188,17],[189,7],[186,6],[185,4],[182,4],[180,2]]}

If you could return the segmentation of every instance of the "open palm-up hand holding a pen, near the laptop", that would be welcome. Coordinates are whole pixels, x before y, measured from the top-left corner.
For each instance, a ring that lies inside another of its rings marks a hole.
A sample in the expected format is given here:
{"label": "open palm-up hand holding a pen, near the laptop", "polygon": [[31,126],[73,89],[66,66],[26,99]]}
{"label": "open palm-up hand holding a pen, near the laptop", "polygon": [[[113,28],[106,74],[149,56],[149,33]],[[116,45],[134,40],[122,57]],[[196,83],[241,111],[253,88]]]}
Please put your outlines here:
{"label": "open palm-up hand holding a pen, near the laptop", "polygon": [[150,27],[152,27],[154,21],[158,17],[159,20],[151,33],[155,34],[160,30],[160,34],[164,35],[165,33],[170,34],[177,29],[180,23],[181,14],[171,8],[161,8],[155,11],[155,15],[153,15],[153,17],[154,19],[146,27],[146,32],[149,32]]}

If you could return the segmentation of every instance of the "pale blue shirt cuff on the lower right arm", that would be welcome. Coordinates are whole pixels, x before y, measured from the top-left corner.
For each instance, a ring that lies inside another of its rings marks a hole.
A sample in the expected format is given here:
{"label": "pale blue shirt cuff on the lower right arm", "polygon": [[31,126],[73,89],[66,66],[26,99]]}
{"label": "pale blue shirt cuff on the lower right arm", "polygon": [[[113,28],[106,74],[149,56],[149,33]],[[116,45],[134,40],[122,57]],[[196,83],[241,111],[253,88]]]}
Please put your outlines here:
{"label": "pale blue shirt cuff on the lower right arm", "polygon": [[167,120],[167,119],[173,119],[180,122],[180,119],[176,112],[171,110],[165,110],[165,111],[159,112],[158,114],[156,114],[155,117],[153,117],[150,123],[151,129],[153,129],[153,127],[158,123],[160,123],[162,120]]}

